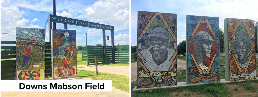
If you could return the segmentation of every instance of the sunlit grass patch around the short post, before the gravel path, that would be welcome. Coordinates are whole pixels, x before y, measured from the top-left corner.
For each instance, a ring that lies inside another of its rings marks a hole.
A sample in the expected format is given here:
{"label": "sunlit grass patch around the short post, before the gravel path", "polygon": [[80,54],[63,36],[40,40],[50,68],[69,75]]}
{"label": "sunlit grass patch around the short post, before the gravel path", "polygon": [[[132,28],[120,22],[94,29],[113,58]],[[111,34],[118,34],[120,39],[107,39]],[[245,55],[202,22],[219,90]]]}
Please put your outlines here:
{"label": "sunlit grass patch around the short post, before the gravel path", "polygon": [[112,86],[116,89],[129,93],[129,77],[123,75],[116,75],[111,73],[98,72],[88,70],[77,70],[79,78],[91,78],[93,80],[112,80]]}

